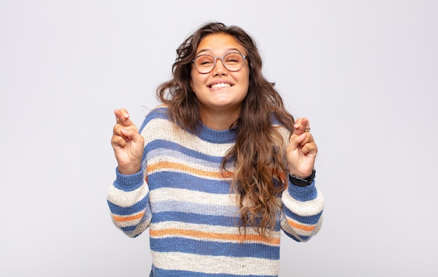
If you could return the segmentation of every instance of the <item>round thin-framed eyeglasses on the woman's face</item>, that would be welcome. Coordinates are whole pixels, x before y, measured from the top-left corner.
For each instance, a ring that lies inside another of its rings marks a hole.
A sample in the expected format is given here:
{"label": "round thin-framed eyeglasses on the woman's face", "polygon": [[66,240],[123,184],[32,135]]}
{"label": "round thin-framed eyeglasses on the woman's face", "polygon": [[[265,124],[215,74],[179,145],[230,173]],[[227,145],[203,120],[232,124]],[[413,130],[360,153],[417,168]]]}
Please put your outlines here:
{"label": "round thin-framed eyeglasses on the woman's face", "polygon": [[243,68],[243,64],[245,63],[245,59],[247,59],[245,55],[239,52],[230,52],[222,57],[213,57],[209,54],[202,54],[197,56],[195,59],[192,59],[192,63],[195,66],[196,70],[198,70],[201,74],[210,73],[211,70],[216,66],[216,60],[220,59],[225,68],[229,71],[239,71]]}

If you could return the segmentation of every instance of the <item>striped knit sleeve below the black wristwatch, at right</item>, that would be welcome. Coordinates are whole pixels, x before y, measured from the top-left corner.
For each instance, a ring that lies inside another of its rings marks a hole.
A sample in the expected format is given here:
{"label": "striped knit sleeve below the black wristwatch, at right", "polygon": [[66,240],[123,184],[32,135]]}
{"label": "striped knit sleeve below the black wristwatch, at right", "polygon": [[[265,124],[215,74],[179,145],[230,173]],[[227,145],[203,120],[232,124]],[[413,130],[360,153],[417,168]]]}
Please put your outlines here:
{"label": "striped knit sleeve below the black wristwatch, at right", "polygon": [[295,241],[308,241],[318,233],[323,223],[324,197],[315,186],[296,186],[289,181],[281,196],[283,212],[281,228]]}

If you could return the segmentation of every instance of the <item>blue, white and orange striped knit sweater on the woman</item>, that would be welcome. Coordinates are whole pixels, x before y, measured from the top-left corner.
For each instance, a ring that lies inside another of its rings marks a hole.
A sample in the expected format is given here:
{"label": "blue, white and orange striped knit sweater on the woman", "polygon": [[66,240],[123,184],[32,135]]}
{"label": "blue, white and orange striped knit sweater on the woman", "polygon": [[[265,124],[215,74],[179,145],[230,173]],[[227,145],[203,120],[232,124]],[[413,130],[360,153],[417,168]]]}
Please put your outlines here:
{"label": "blue, white and orange striped knit sweater on the woman", "polygon": [[269,237],[247,227],[242,238],[236,195],[220,173],[235,141],[232,130],[202,126],[193,135],[176,128],[160,106],[146,117],[141,135],[143,169],[132,175],[116,170],[108,206],[113,223],[129,237],[149,227],[153,276],[278,276],[281,230],[306,241],[320,229],[324,200],[313,181],[306,187],[288,184],[278,197],[282,209]]}

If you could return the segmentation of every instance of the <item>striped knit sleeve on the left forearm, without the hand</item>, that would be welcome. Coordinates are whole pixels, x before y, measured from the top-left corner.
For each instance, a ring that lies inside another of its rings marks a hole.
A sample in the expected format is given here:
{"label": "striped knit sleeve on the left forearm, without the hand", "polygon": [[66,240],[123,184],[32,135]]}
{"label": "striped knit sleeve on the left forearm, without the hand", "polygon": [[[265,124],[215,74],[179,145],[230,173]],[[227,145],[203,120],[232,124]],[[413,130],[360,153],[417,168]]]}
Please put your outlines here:
{"label": "striped knit sleeve on the left forearm, without the hand", "polygon": [[107,202],[116,227],[129,237],[137,237],[149,226],[152,214],[149,188],[143,169],[132,175],[115,170],[116,179],[108,189]]}

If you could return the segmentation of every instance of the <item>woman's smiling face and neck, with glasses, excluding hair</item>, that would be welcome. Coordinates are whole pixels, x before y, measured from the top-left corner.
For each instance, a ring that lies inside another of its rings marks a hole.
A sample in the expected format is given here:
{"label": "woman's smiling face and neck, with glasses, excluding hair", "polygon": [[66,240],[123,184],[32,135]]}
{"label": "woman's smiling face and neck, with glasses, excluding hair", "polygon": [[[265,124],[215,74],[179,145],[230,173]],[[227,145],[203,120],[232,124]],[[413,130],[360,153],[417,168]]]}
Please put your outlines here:
{"label": "woman's smiling face and neck, with glasses, excluding hair", "polygon": [[249,74],[246,50],[234,36],[211,33],[202,38],[192,60],[190,88],[204,125],[225,130],[239,119]]}

